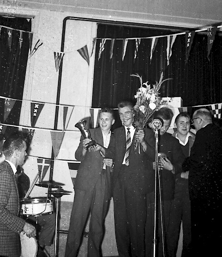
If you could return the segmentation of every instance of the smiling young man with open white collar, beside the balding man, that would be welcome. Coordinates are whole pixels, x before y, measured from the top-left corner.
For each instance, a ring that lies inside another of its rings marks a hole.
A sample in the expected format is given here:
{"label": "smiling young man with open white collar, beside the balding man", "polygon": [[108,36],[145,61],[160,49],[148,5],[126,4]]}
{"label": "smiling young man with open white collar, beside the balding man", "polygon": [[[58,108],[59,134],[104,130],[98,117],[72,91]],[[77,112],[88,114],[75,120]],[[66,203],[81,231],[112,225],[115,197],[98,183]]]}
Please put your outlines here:
{"label": "smiling young man with open white collar, beside the balding man", "polygon": [[[190,149],[195,140],[195,135],[190,132],[190,123],[189,114],[187,112],[180,113],[174,122],[177,131],[172,135],[179,140],[185,157],[190,155]],[[182,172],[176,176],[174,200],[171,203],[169,226],[167,229],[169,257],[176,257],[181,221],[183,231],[182,257],[190,256],[191,217],[188,176],[189,171]]]}

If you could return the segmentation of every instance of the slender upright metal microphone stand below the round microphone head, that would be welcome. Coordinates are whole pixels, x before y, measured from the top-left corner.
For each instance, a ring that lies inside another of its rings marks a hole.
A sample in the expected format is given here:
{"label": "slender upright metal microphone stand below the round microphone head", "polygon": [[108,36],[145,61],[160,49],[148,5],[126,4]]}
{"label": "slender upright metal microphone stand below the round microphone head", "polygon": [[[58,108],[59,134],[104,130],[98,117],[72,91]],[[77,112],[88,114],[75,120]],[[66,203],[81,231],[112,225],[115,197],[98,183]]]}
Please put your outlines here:
{"label": "slender upright metal microphone stand below the round microphone head", "polygon": [[156,256],[157,249],[157,178],[158,178],[158,128],[155,129],[155,185],[154,185],[154,237],[153,237],[153,257]]}

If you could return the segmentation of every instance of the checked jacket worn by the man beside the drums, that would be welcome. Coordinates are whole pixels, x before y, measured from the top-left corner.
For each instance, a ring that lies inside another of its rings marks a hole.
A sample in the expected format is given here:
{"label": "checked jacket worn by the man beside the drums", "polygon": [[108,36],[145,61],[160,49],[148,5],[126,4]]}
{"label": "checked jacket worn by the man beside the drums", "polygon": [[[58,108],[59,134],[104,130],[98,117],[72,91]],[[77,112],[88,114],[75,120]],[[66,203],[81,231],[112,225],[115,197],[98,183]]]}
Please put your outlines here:
{"label": "checked jacket worn by the man beside the drums", "polygon": [[16,178],[10,164],[3,161],[0,164],[0,256],[20,256],[19,234],[25,221],[18,217],[19,209]]}

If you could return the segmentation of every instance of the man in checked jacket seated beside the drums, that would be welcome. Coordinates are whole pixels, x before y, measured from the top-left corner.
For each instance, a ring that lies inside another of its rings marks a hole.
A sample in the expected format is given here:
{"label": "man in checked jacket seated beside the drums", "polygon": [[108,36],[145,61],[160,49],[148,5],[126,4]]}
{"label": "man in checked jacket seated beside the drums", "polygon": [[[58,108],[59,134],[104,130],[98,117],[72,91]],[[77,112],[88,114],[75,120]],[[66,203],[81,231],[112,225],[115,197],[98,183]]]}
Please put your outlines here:
{"label": "man in checked jacket seated beside the drums", "polygon": [[9,137],[3,144],[5,161],[0,163],[0,256],[20,257],[20,233],[35,237],[34,226],[18,217],[20,202],[15,173],[26,157],[23,138]]}

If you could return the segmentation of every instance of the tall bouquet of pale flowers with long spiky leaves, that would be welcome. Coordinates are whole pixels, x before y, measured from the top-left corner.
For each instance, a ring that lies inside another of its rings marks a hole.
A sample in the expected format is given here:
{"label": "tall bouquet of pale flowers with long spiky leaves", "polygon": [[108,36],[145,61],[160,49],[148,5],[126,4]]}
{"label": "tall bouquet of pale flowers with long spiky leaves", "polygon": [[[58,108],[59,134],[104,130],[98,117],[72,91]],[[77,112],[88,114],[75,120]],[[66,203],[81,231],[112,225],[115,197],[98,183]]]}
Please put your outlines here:
{"label": "tall bouquet of pale flowers with long spiky leaves", "polygon": [[[135,116],[133,125],[138,131],[145,127],[147,121],[150,119],[155,111],[159,110],[162,105],[166,105],[170,101],[170,98],[166,98],[166,100],[163,100],[159,96],[159,90],[162,83],[168,79],[163,80],[162,72],[159,82],[156,81],[156,84],[154,84],[153,88],[151,88],[151,86],[148,85],[148,81],[142,83],[142,77],[139,74],[132,74],[130,76],[138,77],[141,82],[141,87],[138,89],[136,95],[134,96],[134,98],[137,99],[137,103],[134,106]],[[139,149],[140,153],[141,150],[138,138],[136,138],[134,142],[134,150],[136,150],[137,148]]]}

